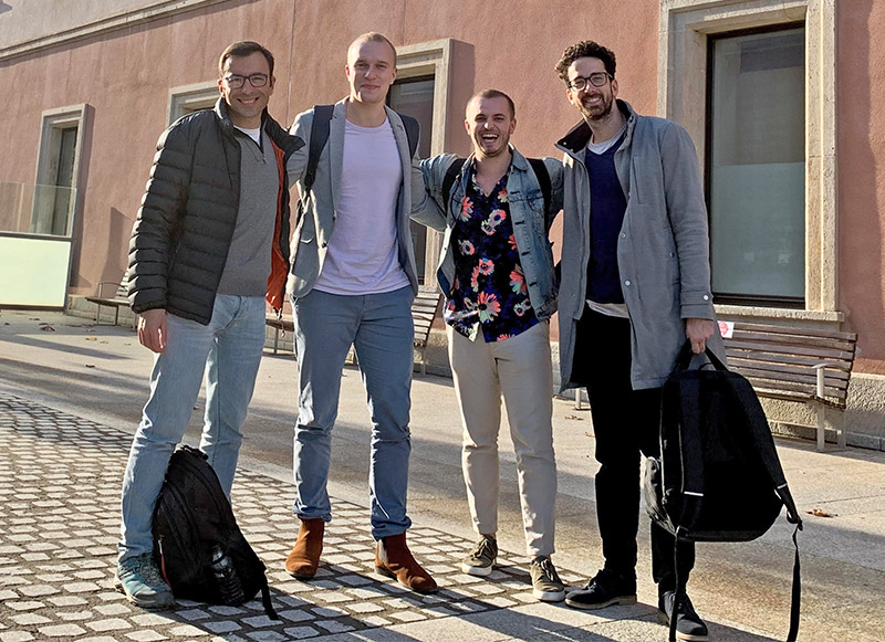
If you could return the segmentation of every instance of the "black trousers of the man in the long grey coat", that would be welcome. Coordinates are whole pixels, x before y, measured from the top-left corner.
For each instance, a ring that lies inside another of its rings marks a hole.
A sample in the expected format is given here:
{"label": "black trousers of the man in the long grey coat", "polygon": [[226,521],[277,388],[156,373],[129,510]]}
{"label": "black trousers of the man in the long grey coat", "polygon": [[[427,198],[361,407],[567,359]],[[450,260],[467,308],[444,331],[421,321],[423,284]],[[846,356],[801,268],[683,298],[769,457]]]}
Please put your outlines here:
{"label": "black trousers of the man in the long grey coat", "polygon": [[[573,380],[587,388],[596,435],[596,517],[605,569],[636,577],[639,453],[658,456],[660,388],[633,390],[629,320],[586,309],[577,325]],[[576,377],[576,379],[574,379]],[[694,543],[679,543],[679,576],[695,566]],[[674,537],[652,523],[652,577],[658,594],[676,588]]]}

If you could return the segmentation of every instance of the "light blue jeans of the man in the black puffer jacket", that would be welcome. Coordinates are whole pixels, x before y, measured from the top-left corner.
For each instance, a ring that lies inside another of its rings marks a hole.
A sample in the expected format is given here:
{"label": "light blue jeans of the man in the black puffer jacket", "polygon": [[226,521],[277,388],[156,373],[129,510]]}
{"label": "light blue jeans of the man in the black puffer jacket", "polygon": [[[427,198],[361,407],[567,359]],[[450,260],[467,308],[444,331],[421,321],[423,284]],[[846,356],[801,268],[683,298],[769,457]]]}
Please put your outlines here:
{"label": "light blue jeans of the man in the black puffer jacket", "polygon": [[119,559],[154,548],[150,525],[169,456],[181,441],[206,376],[200,450],[230,497],[240,427],[252,398],[264,345],[264,297],[216,296],[208,326],[166,316],[166,351],[154,358],[150,394],[123,476]]}

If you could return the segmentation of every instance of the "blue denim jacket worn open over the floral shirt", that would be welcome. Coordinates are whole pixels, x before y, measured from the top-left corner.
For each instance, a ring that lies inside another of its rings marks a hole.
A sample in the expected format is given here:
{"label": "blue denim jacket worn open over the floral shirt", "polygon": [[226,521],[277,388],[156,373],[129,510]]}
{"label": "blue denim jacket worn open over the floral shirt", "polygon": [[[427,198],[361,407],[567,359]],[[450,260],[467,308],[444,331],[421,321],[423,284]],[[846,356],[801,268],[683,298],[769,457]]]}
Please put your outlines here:
{"label": "blue denim jacket worn open over the floral shirt", "polygon": [[[550,318],[556,312],[558,283],[553,272],[553,252],[548,239],[550,223],[562,209],[562,162],[555,158],[544,158],[544,166],[550,175],[551,203],[550,220],[544,221],[544,197],[529,161],[512,147],[513,159],[507,178],[510,217],[513,221],[513,238],[525,274],[529,288],[529,301],[539,320]],[[424,183],[430,198],[427,207],[412,218],[435,230],[445,231],[440,252],[437,281],[442,293],[448,297],[455,280],[455,256],[451,251],[451,230],[455,218],[461,209],[461,201],[467,191],[468,169],[472,156],[464,164],[455,179],[449,194],[449,202],[442,202],[442,181],[446,171],[458,157],[441,154],[421,160]]]}

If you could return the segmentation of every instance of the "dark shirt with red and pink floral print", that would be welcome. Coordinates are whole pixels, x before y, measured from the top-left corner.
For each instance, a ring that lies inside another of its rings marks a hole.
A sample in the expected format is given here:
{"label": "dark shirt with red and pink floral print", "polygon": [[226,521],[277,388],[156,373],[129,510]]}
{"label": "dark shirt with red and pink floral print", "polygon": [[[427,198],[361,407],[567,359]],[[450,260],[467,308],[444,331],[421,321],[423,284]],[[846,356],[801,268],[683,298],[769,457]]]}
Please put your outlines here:
{"label": "dark shirt with red and pink floral print", "polygon": [[469,339],[479,333],[487,343],[516,337],[538,318],[519,261],[507,175],[486,196],[470,162],[467,191],[449,242],[455,253],[455,282],[446,301],[445,319]]}

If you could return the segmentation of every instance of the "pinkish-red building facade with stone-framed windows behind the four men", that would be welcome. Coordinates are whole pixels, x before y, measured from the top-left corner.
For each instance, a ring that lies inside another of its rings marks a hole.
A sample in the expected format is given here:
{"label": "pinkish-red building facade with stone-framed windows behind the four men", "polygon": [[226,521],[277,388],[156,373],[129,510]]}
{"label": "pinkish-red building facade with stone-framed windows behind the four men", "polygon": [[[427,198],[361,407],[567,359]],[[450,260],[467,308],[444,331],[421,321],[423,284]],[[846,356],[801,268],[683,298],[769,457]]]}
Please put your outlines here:
{"label": "pinkish-red building facade with stone-framed windows behind the four men", "polygon": [[[579,40],[612,49],[620,96],[695,140],[718,309],[857,333],[850,443],[885,448],[874,0],[4,0],[0,305],[77,307],[119,282],[157,137],[215,102],[227,44],[274,53],[270,110],[289,124],[345,95],[346,46],[365,31],[398,48],[391,103],[421,120],[424,155],[467,152],[465,103],[496,87],[517,104],[520,150],[558,156],[577,114],[553,65]],[[431,283],[439,240],[413,233]],[[770,412],[789,422],[790,406]]]}

